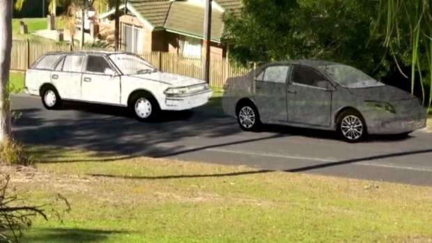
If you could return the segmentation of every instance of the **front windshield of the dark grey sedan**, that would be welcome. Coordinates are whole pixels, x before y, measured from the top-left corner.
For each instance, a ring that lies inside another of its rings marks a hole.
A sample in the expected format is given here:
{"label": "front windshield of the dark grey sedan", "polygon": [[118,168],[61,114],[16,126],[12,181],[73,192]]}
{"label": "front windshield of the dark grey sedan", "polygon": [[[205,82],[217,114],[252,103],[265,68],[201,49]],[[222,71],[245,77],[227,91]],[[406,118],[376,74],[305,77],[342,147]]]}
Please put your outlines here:
{"label": "front windshield of the dark grey sedan", "polygon": [[357,68],[348,65],[325,65],[318,68],[345,88],[369,88],[384,85]]}

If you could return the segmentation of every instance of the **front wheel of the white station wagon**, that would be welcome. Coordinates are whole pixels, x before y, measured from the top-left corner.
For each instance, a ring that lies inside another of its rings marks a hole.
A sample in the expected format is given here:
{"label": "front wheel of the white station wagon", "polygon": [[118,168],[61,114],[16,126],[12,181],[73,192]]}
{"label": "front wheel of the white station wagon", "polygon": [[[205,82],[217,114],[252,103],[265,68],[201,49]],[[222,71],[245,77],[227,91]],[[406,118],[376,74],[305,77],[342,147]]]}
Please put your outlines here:
{"label": "front wheel of the white station wagon", "polygon": [[[141,111],[136,107],[142,104]],[[160,106],[157,103],[155,97],[148,93],[138,93],[134,95],[129,103],[129,109],[133,113],[134,117],[142,123],[155,121],[158,115],[160,115]]]}

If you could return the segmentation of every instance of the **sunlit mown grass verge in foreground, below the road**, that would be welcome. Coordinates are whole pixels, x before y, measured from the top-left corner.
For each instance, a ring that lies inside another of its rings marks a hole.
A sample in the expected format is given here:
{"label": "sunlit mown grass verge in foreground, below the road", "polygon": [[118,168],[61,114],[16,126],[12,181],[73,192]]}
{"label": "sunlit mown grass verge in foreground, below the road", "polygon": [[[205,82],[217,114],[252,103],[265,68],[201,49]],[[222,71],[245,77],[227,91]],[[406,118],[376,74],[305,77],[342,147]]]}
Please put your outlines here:
{"label": "sunlit mown grass verge in foreground, below the road", "polygon": [[[63,225],[24,242],[429,242],[432,188],[33,147],[12,185],[36,204],[63,194]],[[59,209],[63,208],[60,205]],[[52,215],[53,216],[53,215]]]}

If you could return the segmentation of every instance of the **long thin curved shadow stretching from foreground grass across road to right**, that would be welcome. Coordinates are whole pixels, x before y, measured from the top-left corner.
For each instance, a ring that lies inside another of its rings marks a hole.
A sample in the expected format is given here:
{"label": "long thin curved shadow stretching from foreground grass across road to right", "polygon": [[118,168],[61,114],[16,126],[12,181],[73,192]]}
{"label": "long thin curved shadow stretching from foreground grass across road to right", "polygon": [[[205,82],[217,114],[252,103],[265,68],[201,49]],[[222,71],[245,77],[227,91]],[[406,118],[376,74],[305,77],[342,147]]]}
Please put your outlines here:
{"label": "long thin curved shadow stretching from foreground grass across road to right", "polygon": [[[344,164],[354,164],[357,162],[368,162],[376,159],[386,159],[389,157],[400,157],[408,155],[418,155],[422,153],[432,152],[432,148],[425,150],[414,150],[408,152],[395,152],[386,155],[376,155],[370,157],[361,157],[357,159],[346,159],[339,162],[325,162],[322,164],[314,164],[311,166],[303,166],[298,168],[286,169],[283,172],[288,173],[299,173],[304,171],[313,171],[316,169],[327,168],[332,166],[341,166]],[[224,176],[238,176],[238,175],[252,175],[259,173],[270,173],[276,172],[275,170],[257,170],[257,171],[241,171],[235,173],[219,173],[219,174],[202,174],[202,175],[162,175],[162,176],[125,176],[125,175],[104,175],[104,174],[88,174],[95,177],[107,177],[107,178],[123,178],[123,179],[143,179],[143,180],[162,180],[162,179],[180,179],[180,178],[211,178],[211,177],[224,177]]]}

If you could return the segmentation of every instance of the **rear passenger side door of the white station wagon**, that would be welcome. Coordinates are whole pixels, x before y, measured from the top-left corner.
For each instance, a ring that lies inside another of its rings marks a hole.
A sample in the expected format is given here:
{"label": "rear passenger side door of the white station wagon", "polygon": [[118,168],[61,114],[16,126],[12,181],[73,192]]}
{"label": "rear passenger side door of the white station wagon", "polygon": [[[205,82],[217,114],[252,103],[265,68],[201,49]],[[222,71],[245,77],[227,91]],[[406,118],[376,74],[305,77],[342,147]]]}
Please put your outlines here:
{"label": "rear passenger side door of the white station wagon", "polygon": [[84,57],[84,54],[67,54],[51,72],[51,82],[62,99],[79,100],[81,98]]}

